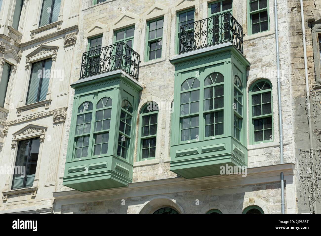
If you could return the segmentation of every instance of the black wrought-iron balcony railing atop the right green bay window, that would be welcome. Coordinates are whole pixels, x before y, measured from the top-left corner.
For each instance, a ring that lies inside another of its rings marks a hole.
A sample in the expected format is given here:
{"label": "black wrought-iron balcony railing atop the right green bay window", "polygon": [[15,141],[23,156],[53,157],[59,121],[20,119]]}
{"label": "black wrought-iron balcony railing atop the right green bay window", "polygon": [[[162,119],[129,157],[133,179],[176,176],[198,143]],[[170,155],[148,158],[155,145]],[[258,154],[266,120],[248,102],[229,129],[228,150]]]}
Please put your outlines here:
{"label": "black wrought-iron balcony railing atop the right green bay window", "polygon": [[243,28],[231,13],[191,22],[179,30],[179,53],[225,42],[231,42],[243,54]]}

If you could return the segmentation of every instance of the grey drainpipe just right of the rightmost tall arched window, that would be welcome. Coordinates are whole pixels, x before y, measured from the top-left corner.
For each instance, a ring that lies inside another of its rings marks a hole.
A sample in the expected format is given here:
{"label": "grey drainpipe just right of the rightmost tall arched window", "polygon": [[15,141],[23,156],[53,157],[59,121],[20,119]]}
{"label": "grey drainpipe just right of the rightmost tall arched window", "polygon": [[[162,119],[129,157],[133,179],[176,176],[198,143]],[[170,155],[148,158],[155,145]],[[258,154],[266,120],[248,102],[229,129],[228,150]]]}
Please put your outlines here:
{"label": "grey drainpipe just right of the rightmost tall arched window", "polygon": [[[277,0],[274,0],[274,27],[275,27],[276,72],[277,72],[277,92],[278,92],[278,112],[279,112],[280,162],[282,164],[283,163],[283,123],[282,123],[282,103],[281,103],[280,52],[279,52]],[[283,172],[281,172],[280,178],[281,178],[281,213],[285,214]]]}

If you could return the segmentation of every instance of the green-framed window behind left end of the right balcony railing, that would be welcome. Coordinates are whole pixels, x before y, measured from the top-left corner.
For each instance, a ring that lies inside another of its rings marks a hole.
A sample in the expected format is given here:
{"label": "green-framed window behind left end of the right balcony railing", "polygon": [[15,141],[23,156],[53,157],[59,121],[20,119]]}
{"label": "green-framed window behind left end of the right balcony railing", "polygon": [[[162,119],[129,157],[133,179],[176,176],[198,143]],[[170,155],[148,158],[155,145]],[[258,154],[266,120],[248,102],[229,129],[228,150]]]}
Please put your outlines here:
{"label": "green-framed window behind left end of the right balcony railing", "polygon": [[[193,16],[193,17],[192,17]],[[178,54],[179,52],[179,32],[180,27],[182,25],[186,25],[195,21],[195,8],[190,8],[184,11],[180,11],[176,15],[176,29],[177,29],[177,37],[175,39],[175,52]],[[192,26],[190,28],[190,33],[193,33]],[[188,32],[189,33],[189,32]]]}

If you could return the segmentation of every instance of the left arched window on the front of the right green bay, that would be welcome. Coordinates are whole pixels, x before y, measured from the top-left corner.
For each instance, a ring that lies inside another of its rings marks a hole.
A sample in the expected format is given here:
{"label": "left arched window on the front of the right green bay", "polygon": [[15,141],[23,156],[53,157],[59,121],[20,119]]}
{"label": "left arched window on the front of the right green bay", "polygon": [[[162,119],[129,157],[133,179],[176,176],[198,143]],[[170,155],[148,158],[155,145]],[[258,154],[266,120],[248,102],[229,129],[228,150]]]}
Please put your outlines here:
{"label": "left arched window on the front of the right green bay", "polygon": [[181,85],[180,140],[197,139],[199,126],[200,81],[188,78]]}

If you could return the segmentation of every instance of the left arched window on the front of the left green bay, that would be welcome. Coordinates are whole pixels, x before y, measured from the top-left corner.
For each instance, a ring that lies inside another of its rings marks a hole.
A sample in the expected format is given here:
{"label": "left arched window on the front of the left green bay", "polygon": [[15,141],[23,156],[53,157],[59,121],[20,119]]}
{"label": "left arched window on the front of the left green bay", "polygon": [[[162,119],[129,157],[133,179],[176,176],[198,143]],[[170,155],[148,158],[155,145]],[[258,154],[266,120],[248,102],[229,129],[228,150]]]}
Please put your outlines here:
{"label": "left arched window on the front of the left green bay", "polygon": [[83,102],[78,107],[75,131],[75,158],[87,157],[93,105]]}

